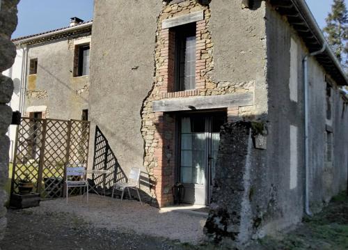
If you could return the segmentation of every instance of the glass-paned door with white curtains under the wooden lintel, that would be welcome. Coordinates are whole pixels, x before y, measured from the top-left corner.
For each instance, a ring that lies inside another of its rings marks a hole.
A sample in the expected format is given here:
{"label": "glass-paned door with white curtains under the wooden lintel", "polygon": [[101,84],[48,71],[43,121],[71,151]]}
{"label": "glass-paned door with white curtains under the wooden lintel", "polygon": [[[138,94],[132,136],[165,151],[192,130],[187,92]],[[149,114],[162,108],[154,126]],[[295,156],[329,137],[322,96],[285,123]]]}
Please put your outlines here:
{"label": "glass-paned door with white curtains under the wooden lintel", "polygon": [[209,204],[219,150],[220,127],[225,116],[185,116],[180,130],[180,182],[184,201]]}

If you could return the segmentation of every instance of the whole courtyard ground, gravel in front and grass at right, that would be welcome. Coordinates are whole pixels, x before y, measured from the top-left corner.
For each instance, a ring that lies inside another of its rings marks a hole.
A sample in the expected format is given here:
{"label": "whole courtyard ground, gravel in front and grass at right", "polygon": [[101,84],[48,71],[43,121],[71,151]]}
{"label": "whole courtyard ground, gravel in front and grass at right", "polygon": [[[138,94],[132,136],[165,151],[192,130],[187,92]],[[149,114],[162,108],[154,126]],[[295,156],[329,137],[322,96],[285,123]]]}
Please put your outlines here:
{"label": "whole courtyard ground, gravel in front and grass at right", "polygon": [[[102,200],[97,197],[95,201],[100,202],[93,203],[92,198],[87,206],[84,200],[76,197],[72,198],[72,203],[67,206],[64,199],[56,199],[42,202],[38,208],[8,210],[8,228],[5,238],[0,242],[0,248],[2,250],[221,249],[201,243],[202,221],[205,221],[205,218],[180,212],[161,213],[147,205],[144,208],[137,201],[120,203],[119,200],[113,201],[107,197]],[[113,207],[104,207],[106,203],[113,204]],[[134,217],[136,212],[141,212],[141,215]],[[164,222],[166,224],[163,224]],[[254,240],[244,250],[310,249],[348,249],[347,194],[342,193],[334,197],[331,203],[314,217],[305,217],[294,231],[279,234],[277,237]]]}

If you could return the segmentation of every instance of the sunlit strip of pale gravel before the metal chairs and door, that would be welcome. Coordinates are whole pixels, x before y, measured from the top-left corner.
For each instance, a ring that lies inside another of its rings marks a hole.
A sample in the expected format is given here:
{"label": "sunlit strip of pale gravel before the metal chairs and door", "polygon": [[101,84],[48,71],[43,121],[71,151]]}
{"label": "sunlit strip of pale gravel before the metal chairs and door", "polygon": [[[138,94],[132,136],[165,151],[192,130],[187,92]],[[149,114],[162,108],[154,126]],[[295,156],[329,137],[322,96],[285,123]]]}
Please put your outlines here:
{"label": "sunlit strip of pale gravel before the metal chairs and door", "polygon": [[42,201],[40,207],[27,209],[33,214],[69,213],[80,217],[94,228],[118,230],[124,233],[164,237],[170,240],[179,240],[198,244],[204,238],[204,217],[184,214],[180,212],[164,212],[150,205],[120,199],[90,195],[86,197],[74,196],[65,199],[58,198],[51,201]]}

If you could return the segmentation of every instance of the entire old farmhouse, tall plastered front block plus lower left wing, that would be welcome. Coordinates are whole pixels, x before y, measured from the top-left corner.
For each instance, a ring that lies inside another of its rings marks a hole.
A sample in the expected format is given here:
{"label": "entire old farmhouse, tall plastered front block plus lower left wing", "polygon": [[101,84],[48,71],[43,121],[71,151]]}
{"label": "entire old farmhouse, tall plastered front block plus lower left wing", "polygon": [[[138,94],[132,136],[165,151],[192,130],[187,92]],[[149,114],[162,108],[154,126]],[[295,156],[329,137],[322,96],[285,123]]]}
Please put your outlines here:
{"label": "entire old farmhouse, tall plastered front block plus lower left wing", "polygon": [[13,40],[13,109],[88,118],[153,204],[181,182],[244,244],[347,188],[348,79],[304,0],[95,1],[91,27]]}

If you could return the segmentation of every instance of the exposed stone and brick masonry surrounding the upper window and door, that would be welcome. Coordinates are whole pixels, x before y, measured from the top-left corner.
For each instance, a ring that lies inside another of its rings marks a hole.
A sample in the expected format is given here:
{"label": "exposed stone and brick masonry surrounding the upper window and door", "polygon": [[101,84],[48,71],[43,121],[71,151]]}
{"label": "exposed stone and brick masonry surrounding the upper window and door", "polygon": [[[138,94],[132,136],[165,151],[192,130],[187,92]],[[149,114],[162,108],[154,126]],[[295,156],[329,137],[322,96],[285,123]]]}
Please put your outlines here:
{"label": "exposed stone and brick masonry surrounding the upper window and door", "polygon": [[[196,89],[174,92],[174,47],[175,34],[171,29],[162,29],[162,21],[197,11],[204,11],[204,19],[196,22]],[[171,203],[171,187],[175,180],[175,115],[152,112],[152,102],[164,98],[189,97],[194,95],[224,95],[254,91],[254,81],[214,82],[214,42],[209,31],[211,11],[209,6],[196,0],[164,2],[158,17],[155,44],[154,85],[143,104],[141,132],[145,141],[144,166],[150,180],[156,183],[152,196],[160,206]],[[249,114],[239,107],[228,108],[228,120],[235,121],[240,112]],[[161,124],[163,122],[164,124]]]}

